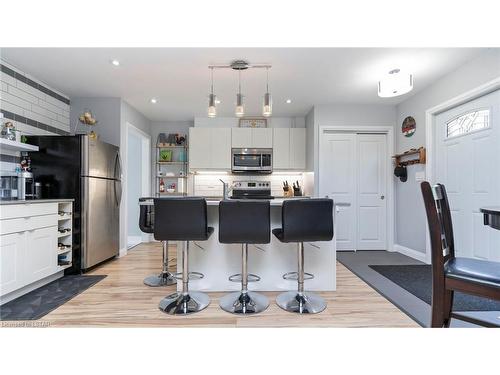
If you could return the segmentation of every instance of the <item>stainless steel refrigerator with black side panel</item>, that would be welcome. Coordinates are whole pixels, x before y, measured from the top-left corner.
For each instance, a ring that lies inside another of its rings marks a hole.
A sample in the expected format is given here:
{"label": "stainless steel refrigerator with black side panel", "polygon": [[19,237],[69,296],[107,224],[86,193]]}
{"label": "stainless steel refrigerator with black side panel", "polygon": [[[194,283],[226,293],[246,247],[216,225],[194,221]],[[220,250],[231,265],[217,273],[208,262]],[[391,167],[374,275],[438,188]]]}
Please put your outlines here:
{"label": "stainless steel refrigerator with black side panel", "polygon": [[67,273],[113,258],[120,247],[120,149],[86,135],[30,136],[35,181],[43,198],[74,198],[73,262]]}

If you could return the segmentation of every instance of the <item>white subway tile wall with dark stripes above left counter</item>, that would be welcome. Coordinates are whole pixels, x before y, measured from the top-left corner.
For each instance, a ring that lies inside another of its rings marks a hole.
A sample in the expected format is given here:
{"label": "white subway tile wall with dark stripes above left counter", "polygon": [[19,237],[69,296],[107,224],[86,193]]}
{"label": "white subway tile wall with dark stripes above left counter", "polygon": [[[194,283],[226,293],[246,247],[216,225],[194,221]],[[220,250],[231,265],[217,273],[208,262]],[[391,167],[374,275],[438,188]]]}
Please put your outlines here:
{"label": "white subway tile wall with dark stripes above left counter", "polygon": [[70,100],[0,60],[0,111],[24,134],[66,135]]}

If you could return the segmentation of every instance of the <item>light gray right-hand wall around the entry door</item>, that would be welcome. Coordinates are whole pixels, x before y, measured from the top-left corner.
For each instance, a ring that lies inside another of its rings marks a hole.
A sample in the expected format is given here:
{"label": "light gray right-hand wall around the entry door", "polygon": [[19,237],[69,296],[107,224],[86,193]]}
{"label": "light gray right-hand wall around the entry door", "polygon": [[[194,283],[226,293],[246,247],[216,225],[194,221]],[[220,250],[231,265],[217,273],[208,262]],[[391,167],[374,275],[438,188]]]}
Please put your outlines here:
{"label": "light gray right-hand wall around the entry door", "polygon": [[[500,77],[500,50],[492,49],[476,59],[442,77],[432,86],[410,97],[397,106],[396,148],[398,152],[425,146],[425,111],[468,90]],[[417,80],[418,77],[415,77]],[[413,116],[417,130],[412,137],[401,133],[401,123],[406,116]],[[415,172],[425,171],[425,166],[408,168],[408,181],[396,180],[396,238],[401,246],[425,253],[427,221],[420,186]]]}

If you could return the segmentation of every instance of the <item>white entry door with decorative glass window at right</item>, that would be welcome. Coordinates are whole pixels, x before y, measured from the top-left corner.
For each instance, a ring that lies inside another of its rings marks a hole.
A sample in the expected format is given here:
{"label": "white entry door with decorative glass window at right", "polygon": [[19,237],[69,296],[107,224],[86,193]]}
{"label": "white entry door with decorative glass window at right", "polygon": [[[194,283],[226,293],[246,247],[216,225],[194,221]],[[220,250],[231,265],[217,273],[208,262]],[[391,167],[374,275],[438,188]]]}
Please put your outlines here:
{"label": "white entry door with decorative glass window at right", "polygon": [[500,260],[500,232],[479,209],[500,205],[500,91],[436,116],[436,182],[446,186],[457,256]]}

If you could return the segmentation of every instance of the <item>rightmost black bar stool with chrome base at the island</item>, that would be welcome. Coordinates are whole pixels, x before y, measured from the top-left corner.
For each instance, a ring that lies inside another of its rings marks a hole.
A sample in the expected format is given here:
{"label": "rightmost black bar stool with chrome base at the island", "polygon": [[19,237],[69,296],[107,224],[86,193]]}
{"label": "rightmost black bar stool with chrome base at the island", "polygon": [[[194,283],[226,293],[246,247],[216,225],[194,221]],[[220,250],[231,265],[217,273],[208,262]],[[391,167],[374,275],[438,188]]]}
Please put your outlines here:
{"label": "rightmost black bar stool with chrome base at the island", "polygon": [[297,291],[281,293],[276,303],[283,310],[299,314],[315,314],[326,308],[326,302],[315,293],[304,292],[304,280],[314,275],[304,272],[304,242],[330,241],[333,238],[333,200],[297,199],[283,202],[282,228],[273,229],[281,242],[298,243],[298,271],[283,275],[297,280]]}

